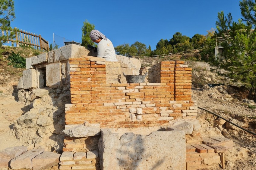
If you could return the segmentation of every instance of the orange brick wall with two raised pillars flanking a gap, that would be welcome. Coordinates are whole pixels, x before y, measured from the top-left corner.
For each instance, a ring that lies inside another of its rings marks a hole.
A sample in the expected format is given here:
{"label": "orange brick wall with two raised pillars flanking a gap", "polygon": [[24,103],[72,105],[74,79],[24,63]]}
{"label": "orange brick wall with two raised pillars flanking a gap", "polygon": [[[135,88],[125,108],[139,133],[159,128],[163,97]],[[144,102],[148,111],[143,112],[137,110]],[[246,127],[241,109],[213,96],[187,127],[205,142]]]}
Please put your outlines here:
{"label": "orange brick wall with two raised pillars flanking a gap", "polygon": [[184,61],[160,62],[160,83],[108,84],[101,58],[70,58],[71,104],[66,124],[99,123],[100,127],[148,127],[195,116],[191,68]]}

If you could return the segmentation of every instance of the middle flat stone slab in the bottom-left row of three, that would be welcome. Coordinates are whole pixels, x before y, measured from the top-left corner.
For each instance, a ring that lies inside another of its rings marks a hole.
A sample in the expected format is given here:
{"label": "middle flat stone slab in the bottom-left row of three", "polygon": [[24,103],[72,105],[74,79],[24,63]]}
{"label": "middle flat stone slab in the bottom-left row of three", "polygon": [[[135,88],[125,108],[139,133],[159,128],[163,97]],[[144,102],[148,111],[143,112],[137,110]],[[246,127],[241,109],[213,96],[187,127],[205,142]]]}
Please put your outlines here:
{"label": "middle flat stone slab in the bottom-left row of three", "polygon": [[32,169],[32,158],[41,154],[44,149],[32,149],[11,160],[11,169]]}

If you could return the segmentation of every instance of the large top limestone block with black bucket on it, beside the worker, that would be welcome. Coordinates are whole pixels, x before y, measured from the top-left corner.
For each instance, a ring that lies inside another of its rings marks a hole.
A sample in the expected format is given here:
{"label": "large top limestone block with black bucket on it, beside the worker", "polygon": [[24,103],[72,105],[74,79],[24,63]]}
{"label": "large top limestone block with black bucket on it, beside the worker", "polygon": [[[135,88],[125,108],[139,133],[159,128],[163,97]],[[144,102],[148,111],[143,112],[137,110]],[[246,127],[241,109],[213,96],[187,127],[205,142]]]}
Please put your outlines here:
{"label": "large top limestone block with black bucket on it, beside the worker", "polygon": [[48,63],[54,63],[57,61],[68,60],[69,58],[80,58],[81,55],[88,55],[89,50],[84,46],[76,44],[69,44],[62,46],[59,49],[54,49],[48,52]]}

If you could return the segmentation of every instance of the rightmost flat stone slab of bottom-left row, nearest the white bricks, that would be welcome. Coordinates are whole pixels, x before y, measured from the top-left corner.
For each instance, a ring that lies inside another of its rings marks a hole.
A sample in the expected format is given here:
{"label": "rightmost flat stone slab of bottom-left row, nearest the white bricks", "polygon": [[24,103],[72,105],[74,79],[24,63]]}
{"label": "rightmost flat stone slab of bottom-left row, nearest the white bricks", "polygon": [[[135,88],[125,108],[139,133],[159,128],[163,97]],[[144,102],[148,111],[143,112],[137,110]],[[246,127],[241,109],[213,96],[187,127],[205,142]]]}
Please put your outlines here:
{"label": "rightmost flat stone slab of bottom-left row, nearest the white bricks", "polygon": [[52,166],[58,165],[61,154],[44,151],[32,159],[33,170],[48,169]]}

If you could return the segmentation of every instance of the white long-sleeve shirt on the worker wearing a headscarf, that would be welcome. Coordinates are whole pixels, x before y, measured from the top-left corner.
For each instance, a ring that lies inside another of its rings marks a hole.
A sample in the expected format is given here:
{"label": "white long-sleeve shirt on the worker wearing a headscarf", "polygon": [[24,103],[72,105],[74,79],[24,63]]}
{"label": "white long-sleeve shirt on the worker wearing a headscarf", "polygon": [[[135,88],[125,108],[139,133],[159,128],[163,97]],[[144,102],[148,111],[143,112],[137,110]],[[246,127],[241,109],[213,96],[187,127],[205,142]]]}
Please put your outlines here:
{"label": "white long-sleeve shirt on the worker wearing a headscarf", "polygon": [[108,38],[107,40],[100,40],[97,52],[97,57],[105,58],[106,61],[117,61],[114,46]]}

